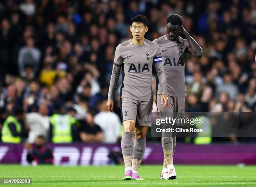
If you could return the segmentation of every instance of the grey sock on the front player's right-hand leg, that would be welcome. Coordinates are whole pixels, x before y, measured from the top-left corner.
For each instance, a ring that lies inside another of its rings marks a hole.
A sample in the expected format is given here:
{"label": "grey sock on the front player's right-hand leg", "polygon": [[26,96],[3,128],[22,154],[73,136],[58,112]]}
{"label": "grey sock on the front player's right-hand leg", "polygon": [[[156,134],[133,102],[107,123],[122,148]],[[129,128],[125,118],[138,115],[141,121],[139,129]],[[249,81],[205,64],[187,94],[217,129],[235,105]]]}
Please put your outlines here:
{"label": "grey sock on the front player's right-hand leg", "polygon": [[138,168],[141,164],[142,157],[144,155],[146,148],[146,138],[140,139],[135,137],[135,142],[133,146],[133,162],[132,162],[132,168],[133,170],[138,172]]}

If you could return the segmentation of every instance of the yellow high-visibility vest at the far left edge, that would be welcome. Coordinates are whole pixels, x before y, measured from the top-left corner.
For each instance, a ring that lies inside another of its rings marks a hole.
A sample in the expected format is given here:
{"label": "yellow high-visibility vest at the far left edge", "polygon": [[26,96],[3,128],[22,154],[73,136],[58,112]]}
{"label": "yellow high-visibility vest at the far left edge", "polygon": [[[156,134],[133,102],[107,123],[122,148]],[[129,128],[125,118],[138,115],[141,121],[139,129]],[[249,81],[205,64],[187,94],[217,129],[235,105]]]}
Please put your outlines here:
{"label": "yellow high-visibility vest at the far left edge", "polygon": [[5,122],[3,123],[3,130],[2,130],[2,142],[6,143],[20,143],[21,137],[20,136],[13,136],[12,132],[10,131],[9,124],[13,123],[16,127],[16,131],[18,133],[21,132],[21,125],[16,120],[16,118],[12,115],[8,116]]}

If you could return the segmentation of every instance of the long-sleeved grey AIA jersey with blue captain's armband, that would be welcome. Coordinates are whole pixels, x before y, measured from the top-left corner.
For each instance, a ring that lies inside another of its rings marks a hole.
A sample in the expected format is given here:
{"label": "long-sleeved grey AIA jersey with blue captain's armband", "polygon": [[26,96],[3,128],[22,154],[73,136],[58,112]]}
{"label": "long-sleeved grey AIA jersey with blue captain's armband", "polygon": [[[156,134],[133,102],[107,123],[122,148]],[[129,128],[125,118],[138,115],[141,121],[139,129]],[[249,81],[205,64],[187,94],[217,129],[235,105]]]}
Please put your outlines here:
{"label": "long-sleeved grey AIA jersey with blue captain's armband", "polygon": [[163,87],[162,92],[167,95],[166,76],[160,47],[146,39],[143,45],[133,45],[131,39],[119,44],[115,51],[108,100],[113,100],[120,67],[122,67],[123,81],[120,97],[128,97],[138,101],[152,101],[153,63],[156,67],[159,82]]}

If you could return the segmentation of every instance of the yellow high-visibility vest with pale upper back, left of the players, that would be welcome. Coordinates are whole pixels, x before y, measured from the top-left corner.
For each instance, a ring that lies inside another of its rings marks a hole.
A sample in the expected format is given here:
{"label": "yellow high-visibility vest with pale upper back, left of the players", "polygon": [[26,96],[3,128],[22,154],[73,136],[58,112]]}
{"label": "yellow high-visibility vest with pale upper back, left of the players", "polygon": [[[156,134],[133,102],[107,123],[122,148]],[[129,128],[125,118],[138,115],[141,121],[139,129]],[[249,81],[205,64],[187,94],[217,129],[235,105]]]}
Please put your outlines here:
{"label": "yellow high-visibility vest with pale upper back, left of the players", "polygon": [[72,142],[71,126],[76,122],[74,117],[69,115],[54,114],[49,118],[52,125],[53,143],[69,143]]}

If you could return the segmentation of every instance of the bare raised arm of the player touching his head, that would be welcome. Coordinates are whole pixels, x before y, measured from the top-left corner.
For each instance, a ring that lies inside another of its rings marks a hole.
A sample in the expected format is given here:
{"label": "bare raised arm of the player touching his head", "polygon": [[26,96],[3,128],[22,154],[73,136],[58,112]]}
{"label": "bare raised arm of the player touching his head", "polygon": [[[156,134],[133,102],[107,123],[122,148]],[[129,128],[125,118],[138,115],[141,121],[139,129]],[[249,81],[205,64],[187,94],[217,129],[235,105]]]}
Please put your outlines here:
{"label": "bare raised arm of the player touching his head", "polygon": [[200,58],[202,57],[203,50],[198,45],[198,43],[189,35],[189,33],[185,30],[185,28],[182,25],[182,33],[185,35],[188,43],[189,43],[189,48],[188,52],[190,55],[192,55],[195,58]]}

